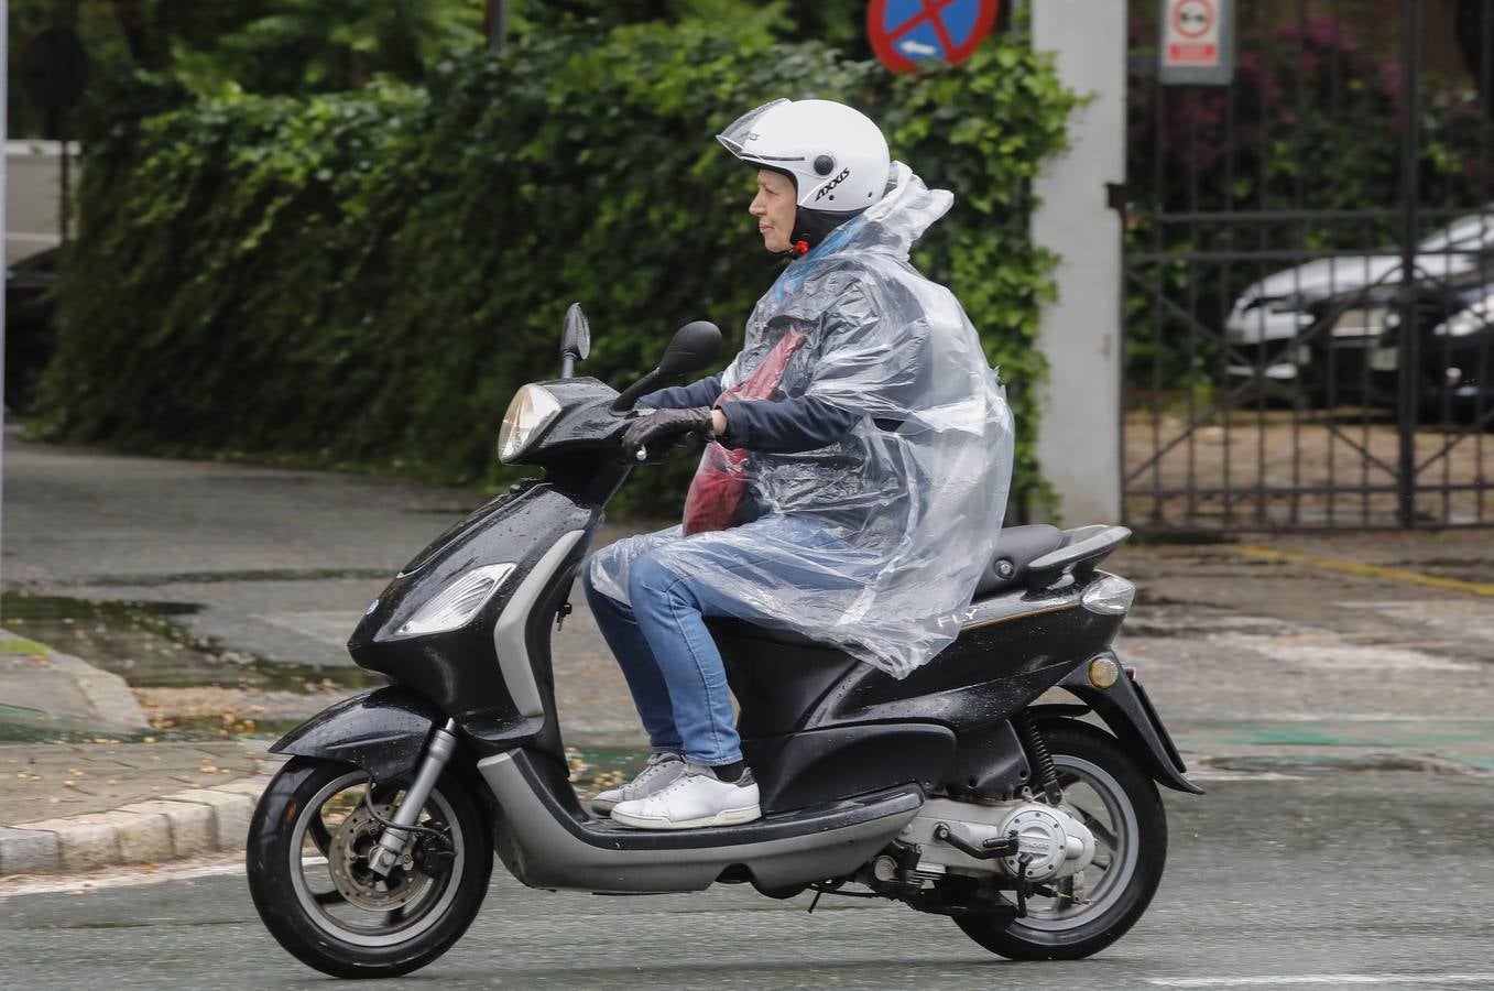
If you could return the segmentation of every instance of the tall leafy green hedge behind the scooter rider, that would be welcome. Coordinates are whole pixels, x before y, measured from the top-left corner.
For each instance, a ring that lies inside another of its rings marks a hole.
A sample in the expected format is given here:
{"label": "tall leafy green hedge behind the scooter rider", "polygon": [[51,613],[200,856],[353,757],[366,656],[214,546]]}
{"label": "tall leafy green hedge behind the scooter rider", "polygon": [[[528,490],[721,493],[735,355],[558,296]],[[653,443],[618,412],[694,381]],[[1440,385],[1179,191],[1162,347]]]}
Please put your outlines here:
{"label": "tall leafy green hedge behind the scooter rider", "polygon": [[[613,383],[692,318],[740,344],[781,262],[746,214],[751,172],[713,135],[766,99],[819,96],[864,108],[956,193],[916,262],[1013,384],[1017,484],[1035,490],[1050,260],[1028,239],[1028,188],[1074,97],[1013,39],[908,79],[771,25],[557,34],[454,55],[427,88],[226,94],[148,120],[130,106],[157,91],[120,100],[87,145],[36,432],[499,483],[499,417],[557,372],[571,302],[592,318],[581,371]],[[619,508],[674,514],[686,471],[638,472]]]}

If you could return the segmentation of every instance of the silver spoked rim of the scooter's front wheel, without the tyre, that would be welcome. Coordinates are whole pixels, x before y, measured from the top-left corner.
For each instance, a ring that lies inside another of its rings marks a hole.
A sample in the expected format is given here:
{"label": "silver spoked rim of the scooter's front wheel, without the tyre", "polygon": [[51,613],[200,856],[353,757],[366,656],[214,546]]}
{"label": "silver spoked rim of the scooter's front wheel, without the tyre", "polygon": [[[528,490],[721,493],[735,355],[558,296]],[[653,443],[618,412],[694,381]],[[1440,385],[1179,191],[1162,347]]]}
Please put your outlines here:
{"label": "silver spoked rim of the scooter's front wheel, without the tyre", "polygon": [[[441,921],[457,895],[466,859],[456,809],[439,789],[421,810],[420,825],[451,825],[454,856],[438,876],[396,868],[379,882],[363,870],[362,855],[376,842],[368,815],[368,774],[350,771],[329,782],[300,810],[288,849],[291,886],[306,918],[329,936],[357,946],[391,946],[415,939]],[[379,815],[388,816],[399,792],[376,791]]]}

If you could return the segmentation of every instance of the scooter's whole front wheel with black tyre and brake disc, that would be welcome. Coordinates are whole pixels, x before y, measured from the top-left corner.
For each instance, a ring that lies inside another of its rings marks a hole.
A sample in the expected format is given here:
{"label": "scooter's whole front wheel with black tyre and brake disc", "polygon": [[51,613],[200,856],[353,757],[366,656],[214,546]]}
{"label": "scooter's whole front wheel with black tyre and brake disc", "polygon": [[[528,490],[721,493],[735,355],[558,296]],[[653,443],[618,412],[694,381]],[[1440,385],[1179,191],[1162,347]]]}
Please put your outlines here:
{"label": "scooter's whole front wheel with black tyre and brake disc", "polygon": [[372,785],[356,767],[314,758],[287,762],[260,797],[249,822],[249,894],[264,927],[302,963],[336,978],[393,978],[441,957],[472,924],[493,846],[450,773],[417,819],[426,831],[385,876],[369,870],[378,818],[402,798],[399,783]]}

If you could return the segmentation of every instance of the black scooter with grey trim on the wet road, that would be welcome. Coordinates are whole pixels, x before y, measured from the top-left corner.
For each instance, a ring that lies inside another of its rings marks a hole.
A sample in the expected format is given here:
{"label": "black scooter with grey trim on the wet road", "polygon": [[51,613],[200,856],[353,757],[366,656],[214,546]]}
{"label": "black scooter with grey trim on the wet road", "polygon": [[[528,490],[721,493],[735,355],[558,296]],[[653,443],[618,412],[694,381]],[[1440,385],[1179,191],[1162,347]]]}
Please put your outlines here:
{"label": "black scooter with grey trim on the wet road", "polygon": [[[335,976],[409,973],[471,925],[495,852],[532,888],[889,898],[1014,960],[1082,958],[1125,934],[1167,856],[1156,783],[1201,789],[1112,650],[1134,586],[1098,565],[1129,535],[1120,526],[1004,529],[970,605],[943,617],[958,638],[902,680],[805,637],[713,620],[762,819],[651,833],[581,806],[551,629],[638,463],[620,456],[633,405],[711,365],[720,332],[684,326],[622,393],[575,377],[589,348],[572,306],[562,378],[521,387],[503,417],[500,459],[545,477],[442,534],[368,607],[348,647],[390,685],[270,747],[290,759],[247,856],[281,946]],[[1040,700],[1050,689],[1067,701]]]}

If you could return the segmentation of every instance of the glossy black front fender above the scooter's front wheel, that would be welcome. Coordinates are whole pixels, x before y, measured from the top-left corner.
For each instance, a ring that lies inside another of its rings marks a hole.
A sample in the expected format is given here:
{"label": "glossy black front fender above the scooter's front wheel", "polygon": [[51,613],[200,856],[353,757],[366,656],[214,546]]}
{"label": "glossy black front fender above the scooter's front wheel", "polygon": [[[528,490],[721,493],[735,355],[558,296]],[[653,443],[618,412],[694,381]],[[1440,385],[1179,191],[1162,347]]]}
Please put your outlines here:
{"label": "glossy black front fender above the scooter's front wheel", "polygon": [[374,780],[415,770],[441,710],[402,688],[379,688],[321,710],[275,741],[270,753],[353,764]]}

